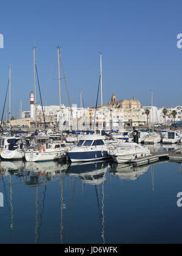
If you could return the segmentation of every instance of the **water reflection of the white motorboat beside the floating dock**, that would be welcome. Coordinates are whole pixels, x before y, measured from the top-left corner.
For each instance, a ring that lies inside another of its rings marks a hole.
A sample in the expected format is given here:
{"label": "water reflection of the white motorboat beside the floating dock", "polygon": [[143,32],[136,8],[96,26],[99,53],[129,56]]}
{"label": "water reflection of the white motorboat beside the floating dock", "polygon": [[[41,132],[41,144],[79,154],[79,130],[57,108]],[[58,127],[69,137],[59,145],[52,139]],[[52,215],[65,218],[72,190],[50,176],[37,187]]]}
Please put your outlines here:
{"label": "water reflection of the white motorboat beside the floating dock", "polygon": [[110,172],[113,175],[120,177],[122,180],[137,180],[141,175],[146,173],[150,165],[133,167],[133,165],[127,165],[125,163],[113,163]]}

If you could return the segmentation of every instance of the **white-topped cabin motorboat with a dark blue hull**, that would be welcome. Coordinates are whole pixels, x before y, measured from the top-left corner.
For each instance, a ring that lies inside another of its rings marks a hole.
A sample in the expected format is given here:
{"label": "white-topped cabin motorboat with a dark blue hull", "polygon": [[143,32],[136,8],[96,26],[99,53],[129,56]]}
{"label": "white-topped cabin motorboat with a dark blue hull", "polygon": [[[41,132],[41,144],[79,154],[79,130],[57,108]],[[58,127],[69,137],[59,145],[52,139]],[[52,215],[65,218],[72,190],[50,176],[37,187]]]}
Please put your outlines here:
{"label": "white-topped cabin motorboat with a dark blue hull", "polygon": [[72,162],[88,162],[109,158],[108,150],[104,136],[84,135],[67,155]]}

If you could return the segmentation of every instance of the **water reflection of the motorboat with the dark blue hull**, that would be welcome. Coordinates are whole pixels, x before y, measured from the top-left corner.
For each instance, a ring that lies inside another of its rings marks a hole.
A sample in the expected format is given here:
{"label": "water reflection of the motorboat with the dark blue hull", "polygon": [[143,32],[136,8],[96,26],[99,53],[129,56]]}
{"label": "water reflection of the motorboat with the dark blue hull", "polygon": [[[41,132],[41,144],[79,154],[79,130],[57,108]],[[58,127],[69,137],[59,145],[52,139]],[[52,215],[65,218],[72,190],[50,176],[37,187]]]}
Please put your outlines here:
{"label": "water reflection of the motorboat with the dark blue hull", "polygon": [[106,180],[109,162],[72,163],[67,169],[68,176],[77,176],[83,183],[99,185]]}

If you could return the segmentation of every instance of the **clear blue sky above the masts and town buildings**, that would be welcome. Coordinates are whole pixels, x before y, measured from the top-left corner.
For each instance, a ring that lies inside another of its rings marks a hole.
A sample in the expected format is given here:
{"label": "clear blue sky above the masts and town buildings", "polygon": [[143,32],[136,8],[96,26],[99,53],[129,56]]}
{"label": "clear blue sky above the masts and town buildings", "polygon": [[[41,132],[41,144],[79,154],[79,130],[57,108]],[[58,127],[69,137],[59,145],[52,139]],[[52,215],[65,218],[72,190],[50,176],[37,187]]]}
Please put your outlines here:
{"label": "clear blue sky above the masts and town buildings", "polygon": [[[153,88],[158,107],[182,105],[182,49],[177,48],[181,13],[180,0],[2,1],[1,106],[11,64],[12,112],[19,116],[21,99],[23,110],[30,109],[34,44],[44,104],[59,104],[60,45],[72,103],[79,105],[83,88],[85,106],[95,105],[102,51],[104,103],[115,92],[117,99],[135,96],[148,105]],[[68,102],[63,84],[62,102]]]}

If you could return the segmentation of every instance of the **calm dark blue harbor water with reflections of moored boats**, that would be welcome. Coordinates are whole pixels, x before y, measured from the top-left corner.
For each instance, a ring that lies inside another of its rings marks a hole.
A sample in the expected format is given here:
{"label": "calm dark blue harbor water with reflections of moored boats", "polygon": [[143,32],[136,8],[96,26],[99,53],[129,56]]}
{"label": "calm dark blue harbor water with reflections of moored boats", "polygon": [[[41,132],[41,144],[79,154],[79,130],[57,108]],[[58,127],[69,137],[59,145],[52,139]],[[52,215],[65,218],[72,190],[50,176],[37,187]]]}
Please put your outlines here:
{"label": "calm dark blue harbor water with reflections of moored boats", "polygon": [[0,243],[181,243],[182,165],[1,162]]}

